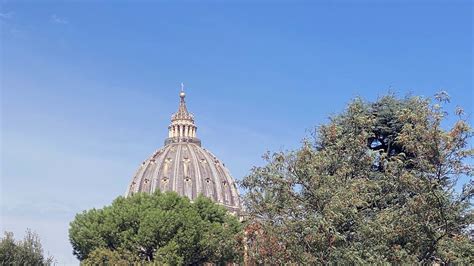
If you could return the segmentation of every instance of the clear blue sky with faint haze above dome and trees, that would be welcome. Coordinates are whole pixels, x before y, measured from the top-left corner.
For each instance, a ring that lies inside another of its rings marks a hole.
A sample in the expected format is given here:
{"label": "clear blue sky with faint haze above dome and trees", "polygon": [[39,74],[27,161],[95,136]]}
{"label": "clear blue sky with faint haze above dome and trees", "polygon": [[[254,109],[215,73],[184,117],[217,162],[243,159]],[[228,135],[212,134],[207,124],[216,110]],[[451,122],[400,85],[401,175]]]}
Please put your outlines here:
{"label": "clear blue sky with faint haze above dome and trees", "polygon": [[350,99],[451,95],[473,114],[470,1],[1,1],[1,220],[61,264],[75,213],[123,195],[179,84],[236,179]]}

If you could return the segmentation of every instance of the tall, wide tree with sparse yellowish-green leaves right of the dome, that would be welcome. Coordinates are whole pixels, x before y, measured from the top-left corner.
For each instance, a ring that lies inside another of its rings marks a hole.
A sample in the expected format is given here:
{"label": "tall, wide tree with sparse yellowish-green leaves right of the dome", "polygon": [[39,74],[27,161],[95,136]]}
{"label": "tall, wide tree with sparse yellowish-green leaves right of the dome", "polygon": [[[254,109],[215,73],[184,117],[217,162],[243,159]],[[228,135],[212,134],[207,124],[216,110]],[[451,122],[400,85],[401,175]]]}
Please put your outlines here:
{"label": "tall, wide tree with sparse yellowish-green leaves right of the dome", "polygon": [[250,258],[474,263],[474,183],[454,189],[473,175],[472,129],[460,109],[442,128],[446,96],[355,99],[298,150],[267,153],[241,182]]}

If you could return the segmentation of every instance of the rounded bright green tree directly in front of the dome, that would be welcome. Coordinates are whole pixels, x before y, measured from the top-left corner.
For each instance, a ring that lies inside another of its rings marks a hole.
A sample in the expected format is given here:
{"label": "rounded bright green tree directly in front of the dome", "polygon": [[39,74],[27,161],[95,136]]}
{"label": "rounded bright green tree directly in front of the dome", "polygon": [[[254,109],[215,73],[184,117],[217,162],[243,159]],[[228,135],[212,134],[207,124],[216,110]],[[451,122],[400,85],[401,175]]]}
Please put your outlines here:
{"label": "rounded bright green tree directly in front of the dome", "polygon": [[103,209],[77,214],[70,224],[73,253],[86,264],[160,264],[241,260],[241,224],[210,199],[174,192],[119,197]]}

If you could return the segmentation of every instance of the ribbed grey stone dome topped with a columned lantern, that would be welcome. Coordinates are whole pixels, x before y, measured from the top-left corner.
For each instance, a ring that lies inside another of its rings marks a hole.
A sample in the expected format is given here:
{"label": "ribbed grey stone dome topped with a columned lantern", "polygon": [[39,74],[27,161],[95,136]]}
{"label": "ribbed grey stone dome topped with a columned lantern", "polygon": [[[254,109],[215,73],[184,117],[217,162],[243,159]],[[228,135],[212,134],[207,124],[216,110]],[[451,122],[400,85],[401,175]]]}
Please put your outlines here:
{"label": "ribbed grey stone dome topped with a columned lantern", "polygon": [[239,213],[240,199],[234,179],[216,156],[201,147],[183,91],[180,98],[178,112],[171,117],[165,146],[139,166],[126,196],[160,190],[174,191],[194,200],[202,194],[232,213]]}

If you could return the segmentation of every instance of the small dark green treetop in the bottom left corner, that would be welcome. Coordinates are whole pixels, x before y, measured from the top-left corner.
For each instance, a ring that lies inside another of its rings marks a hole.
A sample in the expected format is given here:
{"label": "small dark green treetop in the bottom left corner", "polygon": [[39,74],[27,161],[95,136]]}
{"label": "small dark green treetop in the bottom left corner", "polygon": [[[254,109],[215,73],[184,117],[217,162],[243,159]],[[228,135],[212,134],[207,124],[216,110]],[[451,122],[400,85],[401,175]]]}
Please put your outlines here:
{"label": "small dark green treetop in the bottom left corner", "polygon": [[15,241],[13,233],[5,232],[0,239],[1,265],[51,265],[53,257],[45,258],[38,235],[26,231],[22,241]]}

